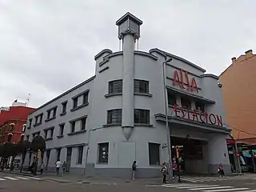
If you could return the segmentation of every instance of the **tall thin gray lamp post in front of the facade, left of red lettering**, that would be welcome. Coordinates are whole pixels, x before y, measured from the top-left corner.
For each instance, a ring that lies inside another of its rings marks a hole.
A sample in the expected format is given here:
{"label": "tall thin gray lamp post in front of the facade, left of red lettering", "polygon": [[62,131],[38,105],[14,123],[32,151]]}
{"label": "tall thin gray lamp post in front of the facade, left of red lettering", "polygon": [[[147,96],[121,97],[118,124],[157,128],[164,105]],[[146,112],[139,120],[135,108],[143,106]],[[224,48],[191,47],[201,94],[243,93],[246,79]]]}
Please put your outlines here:
{"label": "tall thin gray lamp post in front of the facade, left of red lettering", "polygon": [[165,95],[167,147],[168,147],[168,156],[169,156],[169,166],[168,166],[169,177],[170,177],[170,173],[171,173],[171,176],[173,176],[173,172],[170,171],[170,169],[172,169],[172,161],[171,161],[170,129],[169,129],[169,122],[168,122],[168,90],[166,88],[166,63],[171,62],[172,60],[173,60],[172,58],[169,58],[165,62],[162,62],[163,86],[164,86],[164,95]]}

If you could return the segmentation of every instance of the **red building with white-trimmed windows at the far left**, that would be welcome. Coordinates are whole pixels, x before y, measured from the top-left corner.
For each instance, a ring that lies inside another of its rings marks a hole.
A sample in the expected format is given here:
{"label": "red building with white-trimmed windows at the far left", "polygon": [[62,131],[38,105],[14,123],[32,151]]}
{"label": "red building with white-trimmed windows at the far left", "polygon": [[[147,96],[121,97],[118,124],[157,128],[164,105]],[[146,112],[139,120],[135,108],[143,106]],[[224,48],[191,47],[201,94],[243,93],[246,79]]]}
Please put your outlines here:
{"label": "red building with white-trimmed windows at the far left", "polygon": [[34,108],[15,101],[13,106],[0,108],[0,143],[19,142],[24,137],[26,121]]}

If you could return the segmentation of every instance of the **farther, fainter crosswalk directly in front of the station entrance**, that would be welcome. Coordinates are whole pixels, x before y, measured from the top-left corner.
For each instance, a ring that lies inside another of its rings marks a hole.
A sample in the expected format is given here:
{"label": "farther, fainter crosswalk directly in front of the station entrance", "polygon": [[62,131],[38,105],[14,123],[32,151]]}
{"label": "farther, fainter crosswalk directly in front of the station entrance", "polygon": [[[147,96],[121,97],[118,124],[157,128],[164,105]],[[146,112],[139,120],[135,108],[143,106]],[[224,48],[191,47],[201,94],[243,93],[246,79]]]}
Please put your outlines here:
{"label": "farther, fainter crosswalk directly in front of the station entrance", "polygon": [[234,179],[242,179],[242,176],[232,176],[232,177],[225,177],[225,178],[220,178],[217,176],[211,176],[211,177],[190,177],[190,176],[185,176],[182,177],[182,181],[186,182],[219,182],[219,181],[226,181],[226,180],[234,180]]}

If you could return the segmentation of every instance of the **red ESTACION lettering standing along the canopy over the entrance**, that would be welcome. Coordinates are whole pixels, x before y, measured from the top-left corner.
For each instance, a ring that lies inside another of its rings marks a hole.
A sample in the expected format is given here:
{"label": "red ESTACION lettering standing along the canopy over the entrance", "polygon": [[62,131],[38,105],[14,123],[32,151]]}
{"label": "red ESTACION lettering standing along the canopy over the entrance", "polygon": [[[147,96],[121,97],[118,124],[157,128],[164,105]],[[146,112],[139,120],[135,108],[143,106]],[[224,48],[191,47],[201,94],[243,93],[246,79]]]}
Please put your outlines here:
{"label": "red ESTACION lettering standing along the canopy over the entrance", "polygon": [[186,109],[183,106],[178,109],[177,105],[174,106],[174,113],[175,116],[179,118],[186,118],[188,120],[215,126],[223,126],[222,117],[216,114],[208,114],[207,112],[197,110],[193,110],[193,112],[191,112],[189,108]]}

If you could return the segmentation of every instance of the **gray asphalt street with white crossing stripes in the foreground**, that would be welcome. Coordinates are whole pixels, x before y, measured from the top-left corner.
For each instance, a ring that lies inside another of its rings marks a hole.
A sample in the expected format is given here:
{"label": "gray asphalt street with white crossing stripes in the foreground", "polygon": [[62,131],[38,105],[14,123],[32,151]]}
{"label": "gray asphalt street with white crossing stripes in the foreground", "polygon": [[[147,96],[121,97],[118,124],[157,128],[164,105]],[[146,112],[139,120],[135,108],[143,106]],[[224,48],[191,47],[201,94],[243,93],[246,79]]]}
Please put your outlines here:
{"label": "gray asphalt street with white crossing stripes in the foreground", "polygon": [[[56,177],[57,178],[57,177]],[[34,177],[20,174],[0,173],[0,192],[27,192],[27,191],[122,191],[122,192],[153,192],[153,191],[200,191],[200,192],[256,192],[256,175],[246,175],[227,178],[213,177],[184,177],[182,183],[172,180],[169,184],[160,182],[62,182],[54,177]],[[109,180],[110,181],[110,180]],[[158,180],[159,181],[159,180]]]}

